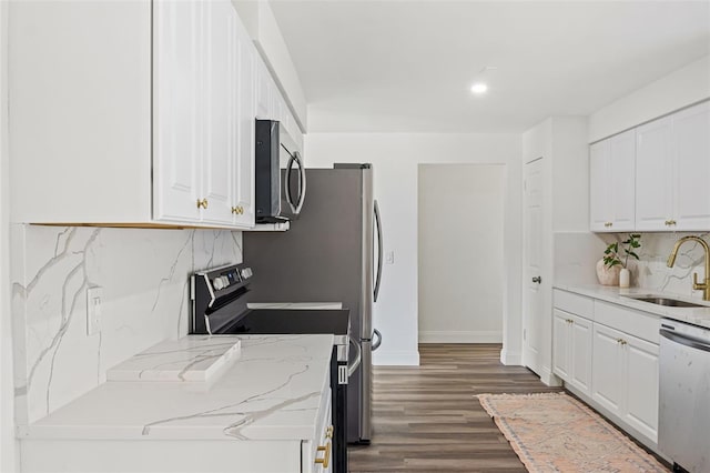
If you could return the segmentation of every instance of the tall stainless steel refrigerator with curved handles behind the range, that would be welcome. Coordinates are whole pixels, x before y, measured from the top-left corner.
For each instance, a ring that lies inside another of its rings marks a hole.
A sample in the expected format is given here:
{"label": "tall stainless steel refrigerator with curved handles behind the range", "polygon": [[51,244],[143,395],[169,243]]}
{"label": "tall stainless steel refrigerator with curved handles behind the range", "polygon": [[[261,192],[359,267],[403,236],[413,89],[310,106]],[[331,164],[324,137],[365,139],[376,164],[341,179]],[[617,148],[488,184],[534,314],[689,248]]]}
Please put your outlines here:
{"label": "tall stainless steel refrigerator with curved handles behind the range", "polygon": [[[254,269],[252,302],[342,302],[362,363],[347,389],[347,440],[372,437],[372,352],[382,343],[373,304],[382,280],[382,225],[371,164],[306,169],[297,221],[286,232],[244,232],[244,262]],[[376,340],[375,340],[376,339]],[[351,350],[354,352],[354,350]]]}

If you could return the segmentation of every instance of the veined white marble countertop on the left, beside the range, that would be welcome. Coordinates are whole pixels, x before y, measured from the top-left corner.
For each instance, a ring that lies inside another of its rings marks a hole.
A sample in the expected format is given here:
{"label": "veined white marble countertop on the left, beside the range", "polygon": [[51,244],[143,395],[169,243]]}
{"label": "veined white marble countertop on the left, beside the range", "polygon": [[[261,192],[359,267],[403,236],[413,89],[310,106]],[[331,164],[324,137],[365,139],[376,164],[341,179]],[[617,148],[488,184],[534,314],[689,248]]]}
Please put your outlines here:
{"label": "veined white marble countertop on the left, beside the range", "polygon": [[315,439],[318,409],[325,401],[324,393],[329,396],[333,335],[244,335],[240,339],[240,359],[211,385],[108,381],[47,417],[18,426],[18,436]]}

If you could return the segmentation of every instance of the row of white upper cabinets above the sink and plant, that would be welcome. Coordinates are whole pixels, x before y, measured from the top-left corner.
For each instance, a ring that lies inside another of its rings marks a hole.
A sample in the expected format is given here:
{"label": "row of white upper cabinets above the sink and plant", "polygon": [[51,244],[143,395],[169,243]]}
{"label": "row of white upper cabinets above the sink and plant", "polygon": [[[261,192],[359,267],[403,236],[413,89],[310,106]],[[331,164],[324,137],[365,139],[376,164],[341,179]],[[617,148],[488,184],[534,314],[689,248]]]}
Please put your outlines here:
{"label": "row of white upper cabinets above the sink and plant", "polygon": [[589,161],[591,231],[710,230],[710,102],[597,142]]}

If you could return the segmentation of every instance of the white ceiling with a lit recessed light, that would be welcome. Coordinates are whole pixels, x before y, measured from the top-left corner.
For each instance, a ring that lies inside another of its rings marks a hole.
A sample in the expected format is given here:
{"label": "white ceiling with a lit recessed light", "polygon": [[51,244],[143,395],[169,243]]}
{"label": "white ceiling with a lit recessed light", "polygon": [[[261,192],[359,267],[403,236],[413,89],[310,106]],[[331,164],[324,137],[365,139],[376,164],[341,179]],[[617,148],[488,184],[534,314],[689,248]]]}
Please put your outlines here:
{"label": "white ceiling with a lit recessed light", "polygon": [[520,132],[710,54],[710,1],[270,3],[310,132]]}

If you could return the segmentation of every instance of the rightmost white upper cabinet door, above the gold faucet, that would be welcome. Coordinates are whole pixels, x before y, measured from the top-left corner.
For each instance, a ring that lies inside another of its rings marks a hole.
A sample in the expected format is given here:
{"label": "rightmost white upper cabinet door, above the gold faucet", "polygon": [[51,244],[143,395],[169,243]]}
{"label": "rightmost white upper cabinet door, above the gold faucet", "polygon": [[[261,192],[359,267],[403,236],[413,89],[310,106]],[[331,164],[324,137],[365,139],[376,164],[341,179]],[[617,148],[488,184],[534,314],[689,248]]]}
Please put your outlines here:
{"label": "rightmost white upper cabinet door, above the gold faucet", "polygon": [[671,115],[673,230],[710,230],[710,102]]}

